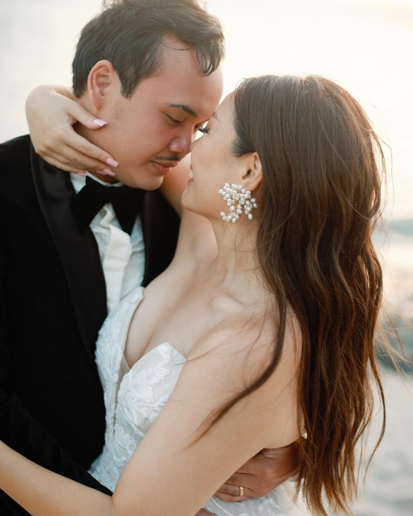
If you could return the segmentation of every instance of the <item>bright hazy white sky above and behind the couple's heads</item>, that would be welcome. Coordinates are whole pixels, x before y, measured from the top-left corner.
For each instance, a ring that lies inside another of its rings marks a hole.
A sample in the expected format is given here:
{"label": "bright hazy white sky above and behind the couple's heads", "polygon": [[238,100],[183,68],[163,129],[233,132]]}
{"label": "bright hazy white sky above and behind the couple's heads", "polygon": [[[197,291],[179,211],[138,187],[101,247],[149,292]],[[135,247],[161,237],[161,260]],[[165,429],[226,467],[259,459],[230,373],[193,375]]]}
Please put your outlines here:
{"label": "bright hazy white sky above and behind the couple's heads", "polygon": [[[0,13],[0,140],[27,132],[24,102],[41,83],[71,84],[83,25],[100,0],[13,0]],[[394,218],[413,218],[413,1],[210,0],[224,26],[225,93],[242,77],[317,73],[347,88],[393,152]],[[5,118],[5,120],[4,120]]]}

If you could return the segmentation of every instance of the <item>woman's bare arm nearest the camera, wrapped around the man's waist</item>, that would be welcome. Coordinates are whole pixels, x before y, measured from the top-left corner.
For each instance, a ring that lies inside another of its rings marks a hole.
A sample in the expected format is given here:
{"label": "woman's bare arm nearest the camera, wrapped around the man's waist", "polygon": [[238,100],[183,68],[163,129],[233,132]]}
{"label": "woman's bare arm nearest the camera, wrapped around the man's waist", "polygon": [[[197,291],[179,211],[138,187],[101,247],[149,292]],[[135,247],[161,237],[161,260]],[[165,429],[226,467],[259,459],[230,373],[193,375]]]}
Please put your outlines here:
{"label": "woman's bare arm nearest the camera, wrapped around the man's waist", "polygon": [[[272,378],[193,443],[211,411],[243,390],[266,365],[272,344],[265,342],[265,330],[257,340],[258,331],[247,331],[243,318],[199,343],[112,499],[44,470],[4,445],[0,488],[34,516],[193,516],[250,457],[268,444],[283,446],[296,437],[295,346],[287,342]],[[254,342],[253,347],[245,345]]]}

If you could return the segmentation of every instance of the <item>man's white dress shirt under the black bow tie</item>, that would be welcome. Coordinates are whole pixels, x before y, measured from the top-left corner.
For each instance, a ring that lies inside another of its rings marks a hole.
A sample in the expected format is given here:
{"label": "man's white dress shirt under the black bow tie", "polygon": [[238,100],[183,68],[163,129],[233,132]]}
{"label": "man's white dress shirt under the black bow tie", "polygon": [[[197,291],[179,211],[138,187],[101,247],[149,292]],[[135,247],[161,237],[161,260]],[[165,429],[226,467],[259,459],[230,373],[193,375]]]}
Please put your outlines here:
{"label": "man's white dress shirt under the black bow tie", "polygon": [[[108,188],[123,186],[122,183],[105,183],[89,172],[86,175]],[[71,173],[70,179],[76,193],[86,185],[86,178],[82,175]],[[132,234],[125,233],[112,204],[105,204],[90,223],[90,229],[99,247],[106,282],[107,309],[110,312],[144,280],[145,244],[142,224],[138,216]]]}

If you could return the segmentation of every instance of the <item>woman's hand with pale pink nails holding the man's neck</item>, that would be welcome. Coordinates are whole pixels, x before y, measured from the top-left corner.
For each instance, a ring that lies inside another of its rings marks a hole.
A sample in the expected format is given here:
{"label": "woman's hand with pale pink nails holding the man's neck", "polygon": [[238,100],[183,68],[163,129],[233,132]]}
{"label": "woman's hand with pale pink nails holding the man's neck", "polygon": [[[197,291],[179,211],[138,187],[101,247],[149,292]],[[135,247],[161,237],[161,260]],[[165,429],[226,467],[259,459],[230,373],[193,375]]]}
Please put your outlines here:
{"label": "woman's hand with pale pink nails holding the man's neck", "polygon": [[27,97],[26,117],[35,151],[51,165],[68,172],[85,170],[100,173],[112,155],[78,135],[73,124],[99,129],[107,122],[96,119],[80,104],[73,91],[64,86],[38,86]]}

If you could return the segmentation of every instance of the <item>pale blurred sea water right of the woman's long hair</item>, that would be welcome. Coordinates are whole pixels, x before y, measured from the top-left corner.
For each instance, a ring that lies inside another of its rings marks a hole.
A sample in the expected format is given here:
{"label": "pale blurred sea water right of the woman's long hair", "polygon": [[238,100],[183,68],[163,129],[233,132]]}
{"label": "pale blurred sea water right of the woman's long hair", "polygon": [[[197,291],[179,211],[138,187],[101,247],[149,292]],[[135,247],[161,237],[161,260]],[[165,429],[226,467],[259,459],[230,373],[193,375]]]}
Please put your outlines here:
{"label": "pale blurred sea water right of the woman's long hair", "polygon": [[[406,358],[413,361],[413,219],[390,223],[386,235],[376,234],[375,245],[384,268],[385,307],[394,318]],[[392,341],[401,351],[395,338]],[[386,431],[353,507],[357,516],[413,515],[413,374],[403,361],[400,369],[396,371],[388,359],[381,361]],[[382,425],[378,396],[376,407],[366,450],[374,448]]]}

